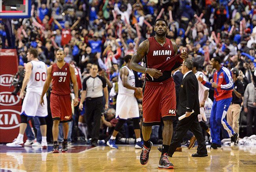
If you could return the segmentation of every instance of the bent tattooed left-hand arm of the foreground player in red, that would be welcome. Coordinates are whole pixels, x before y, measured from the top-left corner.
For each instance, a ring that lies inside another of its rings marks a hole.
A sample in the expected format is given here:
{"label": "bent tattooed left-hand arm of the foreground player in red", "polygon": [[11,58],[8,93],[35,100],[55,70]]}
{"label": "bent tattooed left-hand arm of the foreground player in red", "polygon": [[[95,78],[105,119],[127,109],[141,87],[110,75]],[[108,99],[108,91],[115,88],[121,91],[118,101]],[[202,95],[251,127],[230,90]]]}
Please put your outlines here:
{"label": "bent tattooed left-hand arm of the foreground player in red", "polygon": [[161,73],[161,70],[157,70],[154,68],[145,68],[139,65],[139,62],[148,53],[148,49],[149,49],[149,41],[148,39],[146,39],[141,44],[139,44],[137,51],[132,56],[130,67],[131,69],[136,70],[137,72],[148,73],[153,78],[159,78],[160,76],[163,75],[163,73]]}

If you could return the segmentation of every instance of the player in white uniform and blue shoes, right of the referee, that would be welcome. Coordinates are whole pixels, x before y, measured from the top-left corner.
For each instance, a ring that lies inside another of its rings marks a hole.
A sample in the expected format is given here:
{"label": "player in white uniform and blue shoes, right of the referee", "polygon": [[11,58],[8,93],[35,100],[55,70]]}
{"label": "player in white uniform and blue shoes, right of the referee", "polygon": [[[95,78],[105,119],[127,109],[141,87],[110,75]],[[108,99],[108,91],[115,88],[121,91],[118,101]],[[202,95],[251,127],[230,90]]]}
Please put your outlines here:
{"label": "player in white uniform and blue shoes, right of the referee", "polygon": [[119,71],[117,108],[115,114],[115,117],[118,118],[118,122],[115,126],[113,134],[107,142],[108,146],[113,149],[118,148],[115,145],[115,139],[122,125],[126,122],[128,118],[133,118],[134,133],[136,136],[135,148],[142,149],[143,146],[139,127],[139,106],[134,96],[134,91],[137,90],[137,88],[135,87],[135,76],[134,72],[130,69],[131,59],[131,55],[126,55],[124,57],[126,65],[122,67]]}

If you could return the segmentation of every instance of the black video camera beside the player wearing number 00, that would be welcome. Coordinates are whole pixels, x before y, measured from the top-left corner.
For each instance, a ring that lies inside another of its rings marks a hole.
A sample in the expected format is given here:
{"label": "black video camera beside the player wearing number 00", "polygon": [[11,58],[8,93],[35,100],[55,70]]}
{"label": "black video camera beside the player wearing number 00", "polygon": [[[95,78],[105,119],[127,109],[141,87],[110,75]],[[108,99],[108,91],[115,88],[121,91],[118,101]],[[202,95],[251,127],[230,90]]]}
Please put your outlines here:
{"label": "black video camera beside the player wearing number 00", "polygon": [[[19,67],[19,70],[18,72],[15,74],[14,78],[13,78],[13,81],[11,83],[11,86],[14,86],[15,89],[13,92],[11,92],[11,94],[17,96],[17,93],[20,91],[21,87],[22,87],[22,82],[24,80],[24,76],[25,76],[25,68],[22,66],[22,67]],[[10,86],[10,87],[11,87]],[[10,88],[9,87],[9,88]]]}

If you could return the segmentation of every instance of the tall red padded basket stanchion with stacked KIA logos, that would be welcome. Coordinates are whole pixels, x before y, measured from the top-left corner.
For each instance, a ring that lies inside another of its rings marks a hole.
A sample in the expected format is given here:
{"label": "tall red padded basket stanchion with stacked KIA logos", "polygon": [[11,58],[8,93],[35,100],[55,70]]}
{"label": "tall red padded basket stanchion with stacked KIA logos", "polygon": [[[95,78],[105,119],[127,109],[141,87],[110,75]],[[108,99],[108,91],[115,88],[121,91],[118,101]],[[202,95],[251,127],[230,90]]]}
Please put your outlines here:
{"label": "tall red padded basket stanchion with stacked KIA logos", "polygon": [[[12,142],[19,134],[21,101],[12,95],[13,74],[18,71],[16,49],[0,48],[0,142]],[[11,87],[10,87],[11,86]]]}

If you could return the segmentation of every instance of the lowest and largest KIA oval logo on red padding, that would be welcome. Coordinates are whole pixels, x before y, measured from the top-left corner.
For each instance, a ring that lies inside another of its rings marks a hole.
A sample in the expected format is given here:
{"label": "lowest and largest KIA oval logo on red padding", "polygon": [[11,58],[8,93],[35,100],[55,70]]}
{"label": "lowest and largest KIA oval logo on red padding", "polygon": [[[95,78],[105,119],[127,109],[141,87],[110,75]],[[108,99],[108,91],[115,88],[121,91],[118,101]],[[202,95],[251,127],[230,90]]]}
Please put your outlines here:
{"label": "lowest and largest KIA oval logo on red padding", "polygon": [[0,129],[14,129],[20,126],[17,115],[19,111],[12,109],[0,110]]}

